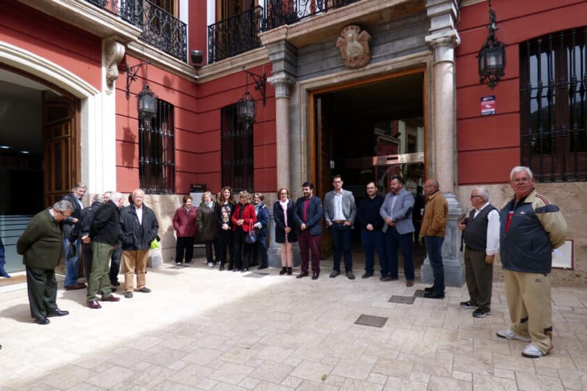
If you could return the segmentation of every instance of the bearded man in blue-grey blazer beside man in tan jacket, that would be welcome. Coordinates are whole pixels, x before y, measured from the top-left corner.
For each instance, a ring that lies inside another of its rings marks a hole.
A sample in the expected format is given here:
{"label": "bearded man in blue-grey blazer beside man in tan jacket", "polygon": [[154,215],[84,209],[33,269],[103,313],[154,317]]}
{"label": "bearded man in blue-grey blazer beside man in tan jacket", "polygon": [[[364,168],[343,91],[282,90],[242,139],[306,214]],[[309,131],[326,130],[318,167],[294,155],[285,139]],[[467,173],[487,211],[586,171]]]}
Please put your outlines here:
{"label": "bearded man in blue-grey blazer beside man in tan jacket", "polygon": [[391,192],[386,195],[379,214],[385,220],[383,232],[386,233],[387,267],[381,270],[381,281],[397,279],[397,247],[404,253],[404,275],[406,286],[413,286],[414,270],[412,259],[412,209],[414,198],[404,189],[404,179],[393,176]]}

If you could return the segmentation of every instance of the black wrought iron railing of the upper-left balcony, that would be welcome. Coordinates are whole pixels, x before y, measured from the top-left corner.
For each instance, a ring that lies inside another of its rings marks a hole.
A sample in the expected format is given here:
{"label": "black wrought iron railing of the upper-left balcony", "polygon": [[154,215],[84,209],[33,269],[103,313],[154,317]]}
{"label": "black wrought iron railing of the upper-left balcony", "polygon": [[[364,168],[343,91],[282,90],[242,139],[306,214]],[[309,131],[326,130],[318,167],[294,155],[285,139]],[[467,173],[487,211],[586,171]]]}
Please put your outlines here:
{"label": "black wrought iron railing of the upper-left balcony", "polygon": [[140,38],[181,61],[188,61],[188,26],[148,0],[86,0],[142,30]]}

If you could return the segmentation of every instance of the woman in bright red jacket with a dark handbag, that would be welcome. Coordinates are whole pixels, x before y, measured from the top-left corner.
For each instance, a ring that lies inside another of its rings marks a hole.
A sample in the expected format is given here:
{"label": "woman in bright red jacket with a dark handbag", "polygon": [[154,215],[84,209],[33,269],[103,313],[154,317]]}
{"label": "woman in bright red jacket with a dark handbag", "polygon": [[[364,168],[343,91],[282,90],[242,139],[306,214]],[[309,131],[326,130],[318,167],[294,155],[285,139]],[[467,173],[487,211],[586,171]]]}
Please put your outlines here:
{"label": "woman in bright red jacket with a dark handbag", "polygon": [[[238,193],[238,204],[232,214],[232,229],[234,230],[234,261],[236,272],[249,270],[249,259],[251,257],[252,245],[246,243],[247,233],[254,229],[257,222],[257,215],[254,213],[254,206],[251,204],[251,194],[249,192]],[[244,254],[243,254],[244,247]],[[242,254],[242,256],[241,256]]]}

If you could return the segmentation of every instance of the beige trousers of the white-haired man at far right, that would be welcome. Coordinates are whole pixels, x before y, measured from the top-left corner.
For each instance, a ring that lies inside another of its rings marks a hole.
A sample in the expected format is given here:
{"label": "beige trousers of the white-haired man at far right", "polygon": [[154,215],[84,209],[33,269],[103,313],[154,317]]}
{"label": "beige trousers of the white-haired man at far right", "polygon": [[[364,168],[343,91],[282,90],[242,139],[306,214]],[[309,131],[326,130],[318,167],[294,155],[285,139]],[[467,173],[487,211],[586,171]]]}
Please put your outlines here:
{"label": "beige trousers of the white-haired man at far right", "polygon": [[547,353],[552,348],[550,274],[503,270],[503,279],[512,331],[530,337],[542,353]]}

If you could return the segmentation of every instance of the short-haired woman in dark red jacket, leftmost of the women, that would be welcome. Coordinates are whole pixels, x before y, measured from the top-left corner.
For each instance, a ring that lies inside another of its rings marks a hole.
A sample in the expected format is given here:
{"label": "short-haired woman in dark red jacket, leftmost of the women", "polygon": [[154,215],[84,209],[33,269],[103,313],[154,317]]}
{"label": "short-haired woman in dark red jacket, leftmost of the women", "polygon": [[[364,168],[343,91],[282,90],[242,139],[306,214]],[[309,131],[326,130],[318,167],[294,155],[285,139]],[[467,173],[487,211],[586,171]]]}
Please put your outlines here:
{"label": "short-haired woman in dark red jacket, leftmost of the women", "polygon": [[177,233],[177,243],[175,245],[176,266],[181,266],[184,254],[185,265],[193,265],[196,215],[197,209],[192,206],[192,197],[183,196],[183,205],[177,208],[173,218],[174,229]]}

